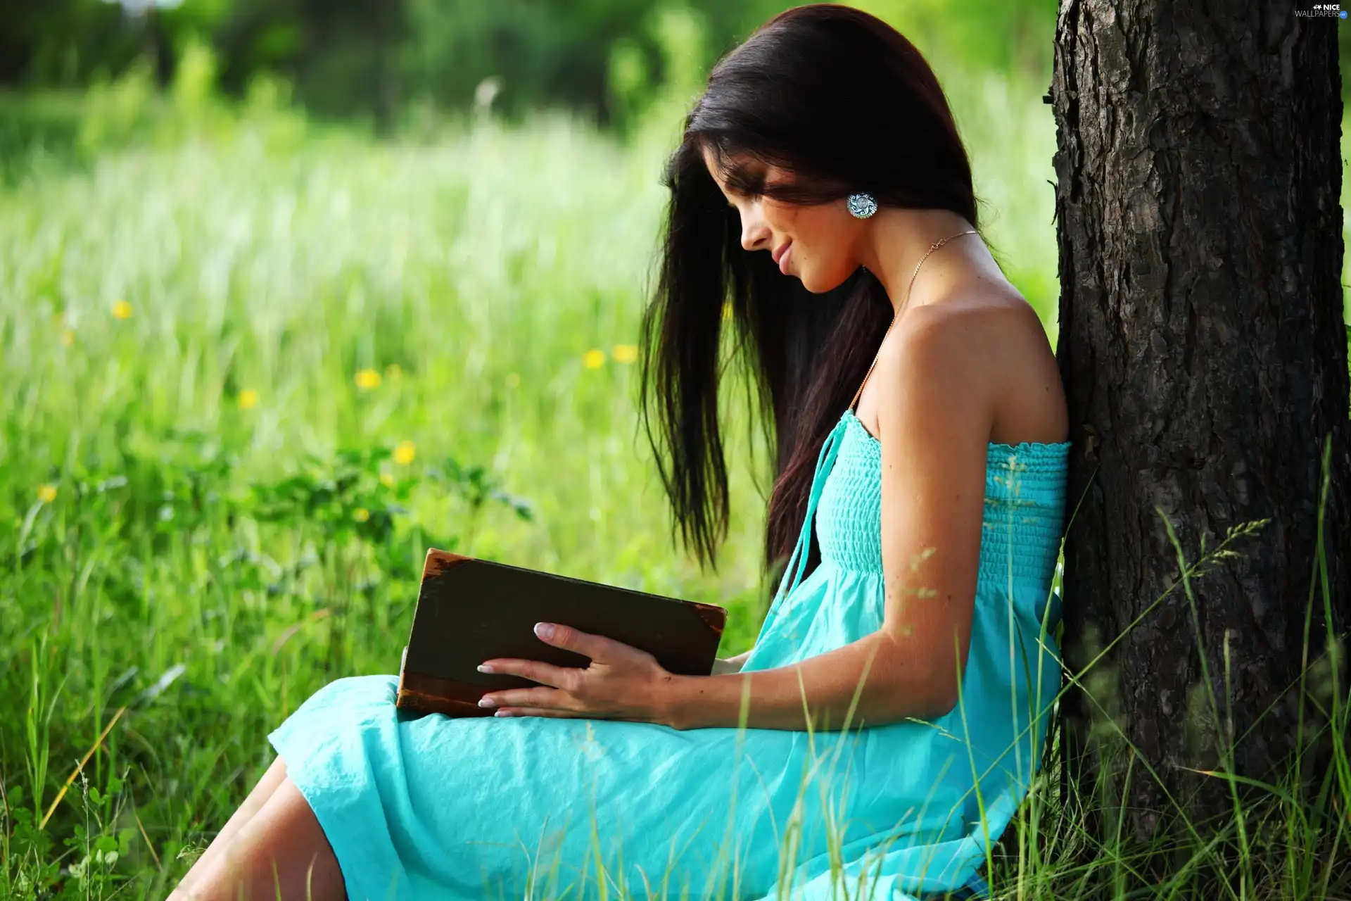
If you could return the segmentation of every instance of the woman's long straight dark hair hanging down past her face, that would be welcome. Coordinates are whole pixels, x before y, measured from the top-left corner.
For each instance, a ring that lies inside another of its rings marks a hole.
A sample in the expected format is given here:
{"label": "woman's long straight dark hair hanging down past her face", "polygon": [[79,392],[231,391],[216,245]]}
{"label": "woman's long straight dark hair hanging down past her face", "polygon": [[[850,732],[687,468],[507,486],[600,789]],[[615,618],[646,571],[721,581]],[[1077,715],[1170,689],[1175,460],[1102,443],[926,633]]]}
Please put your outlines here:
{"label": "woman's long straight dark hair hanging down past her face", "polygon": [[[717,385],[730,303],[735,351],[750,354],[767,442],[773,432],[765,569],[781,571],[807,513],[820,447],[894,311],[862,266],[813,294],[769,253],[746,253],[739,213],[709,176],[704,149],[739,193],[812,204],[867,190],[881,205],[950,209],[979,228],[971,166],[920,51],[875,16],[834,3],[794,7],[761,26],[717,62],[685,118],[662,178],[671,196],[658,285],[642,323],[639,407],[646,424],[655,394],[669,465],[650,424],[647,436],[676,528],[716,571],[728,520]],[[782,166],[794,178],[766,185],[762,166],[730,166],[734,155]],[[807,573],[819,561],[813,530]]]}

